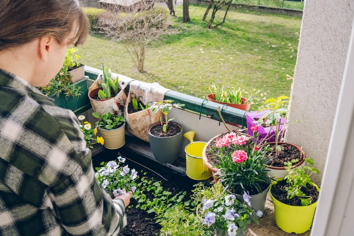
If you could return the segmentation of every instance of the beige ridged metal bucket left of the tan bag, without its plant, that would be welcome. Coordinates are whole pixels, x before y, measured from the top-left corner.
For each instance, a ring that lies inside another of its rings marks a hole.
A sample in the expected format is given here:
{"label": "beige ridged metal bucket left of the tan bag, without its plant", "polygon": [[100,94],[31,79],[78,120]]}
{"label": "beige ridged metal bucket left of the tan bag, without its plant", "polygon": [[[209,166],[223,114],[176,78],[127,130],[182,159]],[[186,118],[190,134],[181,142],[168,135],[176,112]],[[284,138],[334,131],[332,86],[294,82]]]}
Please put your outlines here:
{"label": "beige ridged metal bucket left of the tan bag, without its plant", "polygon": [[107,149],[118,149],[125,144],[125,122],[117,129],[107,130],[98,128],[103,139],[104,146]]}

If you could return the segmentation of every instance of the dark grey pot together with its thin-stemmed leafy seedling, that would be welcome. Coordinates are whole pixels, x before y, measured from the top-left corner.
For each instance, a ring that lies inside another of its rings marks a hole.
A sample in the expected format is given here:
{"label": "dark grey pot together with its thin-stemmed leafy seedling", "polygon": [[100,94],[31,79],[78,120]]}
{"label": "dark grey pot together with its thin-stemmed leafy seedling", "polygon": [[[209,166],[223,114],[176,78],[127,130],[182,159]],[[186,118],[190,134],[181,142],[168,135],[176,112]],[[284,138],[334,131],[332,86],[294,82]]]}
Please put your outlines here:
{"label": "dark grey pot together with its thin-stemmed leafy seedling", "polygon": [[178,159],[183,139],[183,128],[174,119],[168,119],[168,113],[175,107],[181,109],[184,104],[172,104],[173,100],[163,100],[154,102],[149,108],[153,113],[161,111],[165,116],[160,118],[160,122],[149,126],[148,135],[150,147],[157,161],[172,163]]}

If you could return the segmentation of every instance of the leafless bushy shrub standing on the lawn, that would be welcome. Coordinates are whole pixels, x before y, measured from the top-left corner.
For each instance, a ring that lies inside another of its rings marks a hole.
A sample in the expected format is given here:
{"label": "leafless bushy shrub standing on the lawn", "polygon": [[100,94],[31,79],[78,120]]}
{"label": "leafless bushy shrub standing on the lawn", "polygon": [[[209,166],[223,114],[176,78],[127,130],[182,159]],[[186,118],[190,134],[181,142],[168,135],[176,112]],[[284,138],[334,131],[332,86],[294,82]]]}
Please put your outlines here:
{"label": "leafless bushy shrub standing on the lawn", "polygon": [[[142,0],[141,4],[148,2]],[[102,13],[99,17],[99,27],[108,37],[124,42],[138,71],[144,72],[148,44],[157,41],[162,35],[177,31],[171,28],[172,19],[166,9],[154,7],[144,10],[141,4],[130,13]]]}

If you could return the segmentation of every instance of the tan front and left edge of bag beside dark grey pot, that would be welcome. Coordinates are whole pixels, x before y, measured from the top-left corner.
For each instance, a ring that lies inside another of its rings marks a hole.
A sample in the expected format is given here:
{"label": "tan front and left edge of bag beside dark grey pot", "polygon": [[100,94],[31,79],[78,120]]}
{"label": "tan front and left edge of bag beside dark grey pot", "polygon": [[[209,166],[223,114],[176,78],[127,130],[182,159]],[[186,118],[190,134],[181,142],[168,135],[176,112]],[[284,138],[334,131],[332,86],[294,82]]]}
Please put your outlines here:
{"label": "tan front and left edge of bag beside dark grey pot", "polygon": [[124,108],[124,117],[127,120],[126,130],[145,142],[149,142],[148,128],[150,125],[160,121],[162,112],[158,111],[156,114],[153,114],[152,109],[145,109],[128,114],[128,104],[131,103],[134,97],[135,95],[131,94],[131,90],[129,90],[126,106]]}

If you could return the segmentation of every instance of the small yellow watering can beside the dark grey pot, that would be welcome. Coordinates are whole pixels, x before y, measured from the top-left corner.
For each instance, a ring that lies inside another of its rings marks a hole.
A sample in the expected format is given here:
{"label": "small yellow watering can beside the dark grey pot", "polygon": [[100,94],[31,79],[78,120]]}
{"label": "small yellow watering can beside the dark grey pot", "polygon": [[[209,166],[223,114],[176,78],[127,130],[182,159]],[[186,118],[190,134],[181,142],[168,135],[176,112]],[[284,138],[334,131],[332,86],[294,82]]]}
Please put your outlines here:
{"label": "small yellow watering can beside the dark grey pot", "polygon": [[188,131],[183,137],[189,140],[189,144],[185,146],[185,162],[186,162],[186,174],[190,179],[193,180],[206,180],[212,175],[211,171],[207,166],[204,165],[202,159],[202,153],[205,142],[194,142],[195,132]]}

